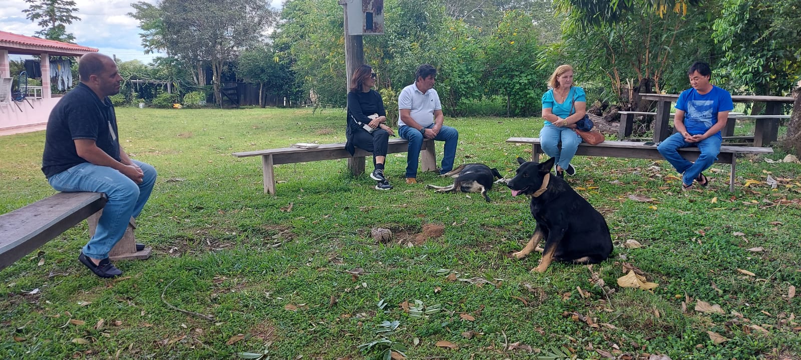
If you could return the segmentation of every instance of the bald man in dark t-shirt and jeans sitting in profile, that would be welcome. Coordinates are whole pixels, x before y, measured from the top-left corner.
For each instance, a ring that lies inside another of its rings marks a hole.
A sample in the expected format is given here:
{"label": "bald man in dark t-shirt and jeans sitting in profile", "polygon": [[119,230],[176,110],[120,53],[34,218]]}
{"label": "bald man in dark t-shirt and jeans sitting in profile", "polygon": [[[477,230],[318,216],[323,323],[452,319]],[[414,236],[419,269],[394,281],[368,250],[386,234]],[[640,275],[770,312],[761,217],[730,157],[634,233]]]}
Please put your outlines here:
{"label": "bald man in dark t-shirt and jeans sitting in profile", "polygon": [[[142,212],[156,172],[131,160],[119,145],[117,117],[110,95],[119,93],[117,65],[111,57],[87,53],[78,62],[81,82],[50,112],[42,172],[60,192],[104,192],[108,198],[95,235],[78,260],[95,275],[121,275],[108,253],[123,238],[131,216]],[[137,244],[137,248],[143,247]]]}

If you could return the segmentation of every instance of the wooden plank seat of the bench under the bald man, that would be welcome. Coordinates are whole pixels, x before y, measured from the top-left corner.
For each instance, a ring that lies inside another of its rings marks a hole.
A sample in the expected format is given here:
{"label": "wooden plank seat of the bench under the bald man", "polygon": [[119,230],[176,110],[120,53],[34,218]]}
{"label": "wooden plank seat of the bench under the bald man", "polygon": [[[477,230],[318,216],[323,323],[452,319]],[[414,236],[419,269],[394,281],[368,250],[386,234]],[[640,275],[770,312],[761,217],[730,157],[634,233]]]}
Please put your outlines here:
{"label": "wooden plank seat of the bench under the bald man", "polygon": [[59,192],[0,215],[0,270],[106,205],[102,192]]}

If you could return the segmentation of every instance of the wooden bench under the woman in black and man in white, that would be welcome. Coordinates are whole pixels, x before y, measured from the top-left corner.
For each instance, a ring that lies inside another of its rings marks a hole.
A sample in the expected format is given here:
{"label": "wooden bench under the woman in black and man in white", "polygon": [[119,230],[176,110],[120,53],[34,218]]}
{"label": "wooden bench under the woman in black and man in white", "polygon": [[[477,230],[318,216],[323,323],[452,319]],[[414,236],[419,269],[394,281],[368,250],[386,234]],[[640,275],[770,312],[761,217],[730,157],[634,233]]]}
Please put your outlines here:
{"label": "wooden bench under the woman in black and man in white", "polygon": [[[408,152],[409,141],[400,138],[389,140],[387,153]],[[264,192],[276,195],[276,176],[273,166],[278,164],[296,164],[309,161],[348,159],[348,168],[354,176],[364,173],[364,157],[372,156],[361,148],[356,148],[353,156],[345,150],[344,143],[320,144],[317,148],[271,148],[250,152],[234,152],[236,157],[261,156],[262,172],[264,172]],[[420,156],[424,172],[437,170],[437,156],[434,152],[434,140],[424,140]]]}

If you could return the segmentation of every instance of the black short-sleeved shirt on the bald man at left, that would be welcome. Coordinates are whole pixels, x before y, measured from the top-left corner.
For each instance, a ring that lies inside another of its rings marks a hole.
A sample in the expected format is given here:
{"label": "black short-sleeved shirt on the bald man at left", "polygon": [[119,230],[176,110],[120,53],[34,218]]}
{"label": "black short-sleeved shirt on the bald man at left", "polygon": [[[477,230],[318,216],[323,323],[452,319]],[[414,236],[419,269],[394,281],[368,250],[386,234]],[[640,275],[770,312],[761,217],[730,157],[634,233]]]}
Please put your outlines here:
{"label": "black short-sleeved shirt on the bald man at left", "polygon": [[[113,133],[112,133],[113,132]],[[95,140],[114,160],[120,161],[117,139],[117,117],[108,97],[100,98],[89,86],[78,83],[66,93],[50,111],[45,133],[45,151],[42,172],[49,179],[59,172],[83,164],[87,160],[78,156],[75,139]]]}

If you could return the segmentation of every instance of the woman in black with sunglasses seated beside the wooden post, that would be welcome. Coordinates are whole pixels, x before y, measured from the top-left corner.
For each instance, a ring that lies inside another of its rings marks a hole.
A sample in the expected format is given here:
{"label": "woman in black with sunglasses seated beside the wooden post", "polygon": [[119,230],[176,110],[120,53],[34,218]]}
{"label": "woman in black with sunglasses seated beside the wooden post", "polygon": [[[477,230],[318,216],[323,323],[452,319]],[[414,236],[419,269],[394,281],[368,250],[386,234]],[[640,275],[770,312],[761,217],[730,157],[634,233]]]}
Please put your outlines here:
{"label": "woman in black with sunglasses seated beside the wooden post", "polygon": [[384,161],[387,159],[389,136],[394,136],[388,127],[387,113],[380,94],[373,90],[376,85],[376,73],[370,65],[361,65],[351,77],[348,91],[348,119],[345,137],[348,142],[345,148],[353,155],[356,148],[372,152],[372,164],[375,168],[370,178],[376,180],[376,190],[389,190],[392,185],[384,177]]}

